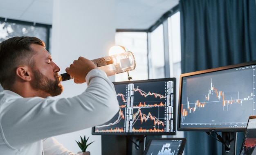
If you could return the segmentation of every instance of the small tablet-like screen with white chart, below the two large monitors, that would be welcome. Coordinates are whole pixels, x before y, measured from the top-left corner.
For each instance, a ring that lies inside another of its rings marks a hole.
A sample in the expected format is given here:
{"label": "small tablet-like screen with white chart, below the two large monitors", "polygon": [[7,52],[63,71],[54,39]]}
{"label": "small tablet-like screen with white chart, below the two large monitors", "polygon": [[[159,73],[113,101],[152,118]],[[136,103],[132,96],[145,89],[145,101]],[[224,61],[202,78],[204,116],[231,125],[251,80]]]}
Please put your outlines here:
{"label": "small tablet-like screen with white chart, below the two large monitors", "polygon": [[143,155],[182,155],[186,138],[152,138]]}

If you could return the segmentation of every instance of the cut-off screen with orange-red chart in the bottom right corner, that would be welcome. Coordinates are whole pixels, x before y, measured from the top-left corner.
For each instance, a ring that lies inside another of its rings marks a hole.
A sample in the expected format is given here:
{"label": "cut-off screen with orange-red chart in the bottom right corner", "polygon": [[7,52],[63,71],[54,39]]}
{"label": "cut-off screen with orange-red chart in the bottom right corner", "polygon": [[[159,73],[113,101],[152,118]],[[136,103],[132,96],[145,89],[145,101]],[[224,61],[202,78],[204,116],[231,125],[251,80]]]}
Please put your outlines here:
{"label": "cut-off screen with orange-red chart in the bottom right corner", "polygon": [[256,116],[249,116],[240,155],[256,155]]}

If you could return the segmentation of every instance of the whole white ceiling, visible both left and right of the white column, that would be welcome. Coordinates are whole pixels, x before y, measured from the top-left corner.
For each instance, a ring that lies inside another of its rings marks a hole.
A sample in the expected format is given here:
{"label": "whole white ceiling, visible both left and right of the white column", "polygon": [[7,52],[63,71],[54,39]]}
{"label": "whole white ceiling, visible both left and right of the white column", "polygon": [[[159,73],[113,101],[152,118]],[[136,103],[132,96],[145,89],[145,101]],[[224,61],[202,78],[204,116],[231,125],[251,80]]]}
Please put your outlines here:
{"label": "whole white ceiling, visible both left and right of the white column", "polygon": [[[73,1],[75,2],[75,1]],[[150,28],[179,0],[116,0],[116,29]],[[0,0],[0,17],[52,24],[53,0]]]}

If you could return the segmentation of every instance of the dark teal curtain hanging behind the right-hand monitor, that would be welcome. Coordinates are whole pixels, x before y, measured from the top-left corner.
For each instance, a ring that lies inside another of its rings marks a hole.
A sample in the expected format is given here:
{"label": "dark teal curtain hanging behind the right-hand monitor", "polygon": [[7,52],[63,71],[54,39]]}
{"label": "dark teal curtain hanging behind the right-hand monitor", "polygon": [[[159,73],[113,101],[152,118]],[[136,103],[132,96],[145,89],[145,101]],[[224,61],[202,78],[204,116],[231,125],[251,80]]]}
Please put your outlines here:
{"label": "dark teal curtain hanging behind the right-hand monitor", "polygon": [[[179,6],[182,73],[256,60],[255,0],[180,0]],[[222,154],[222,144],[205,132],[184,136],[184,155]]]}

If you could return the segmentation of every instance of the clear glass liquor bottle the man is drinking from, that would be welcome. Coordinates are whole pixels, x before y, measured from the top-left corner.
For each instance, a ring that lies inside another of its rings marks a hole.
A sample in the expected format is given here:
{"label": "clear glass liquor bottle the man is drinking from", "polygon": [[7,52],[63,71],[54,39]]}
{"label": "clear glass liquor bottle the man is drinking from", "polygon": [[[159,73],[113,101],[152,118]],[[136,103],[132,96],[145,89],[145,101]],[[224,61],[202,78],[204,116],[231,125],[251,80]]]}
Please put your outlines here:
{"label": "clear glass liquor bottle the man is drinking from", "polygon": [[[134,55],[130,51],[93,59],[92,62],[94,62],[99,69],[106,72],[107,76],[112,76],[122,72],[128,72],[134,70],[136,67]],[[73,79],[73,77],[67,73],[59,75],[60,81],[66,81],[70,79]]]}

